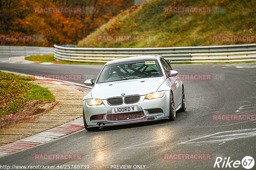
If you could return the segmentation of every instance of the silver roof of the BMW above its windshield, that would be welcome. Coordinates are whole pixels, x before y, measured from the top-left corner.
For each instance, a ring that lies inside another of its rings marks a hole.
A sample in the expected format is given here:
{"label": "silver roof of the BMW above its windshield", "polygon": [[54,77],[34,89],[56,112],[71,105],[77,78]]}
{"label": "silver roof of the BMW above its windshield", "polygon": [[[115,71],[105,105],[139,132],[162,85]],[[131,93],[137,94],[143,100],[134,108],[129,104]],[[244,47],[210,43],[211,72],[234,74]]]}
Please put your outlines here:
{"label": "silver roof of the BMW above its windshield", "polygon": [[158,55],[140,55],[140,56],[134,56],[134,57],[125,57],[121,59],[108,61],[106,65],[123,63],[123,62],[131,62],[131,61],[156,60],[157,56]]}

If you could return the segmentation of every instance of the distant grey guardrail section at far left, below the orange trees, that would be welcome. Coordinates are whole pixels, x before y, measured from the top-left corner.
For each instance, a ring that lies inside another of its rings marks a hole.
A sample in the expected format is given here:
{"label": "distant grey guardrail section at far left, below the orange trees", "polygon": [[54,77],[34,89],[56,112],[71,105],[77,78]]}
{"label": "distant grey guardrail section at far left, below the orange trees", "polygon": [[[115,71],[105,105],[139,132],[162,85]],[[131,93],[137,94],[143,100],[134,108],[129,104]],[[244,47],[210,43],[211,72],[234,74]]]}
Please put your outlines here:
{"label": "distant grey guardrail section at far left, below the orange trees", "polygon": [[53,51],[53,47],[0,46],[0,53],[4,54],[53,54]]}

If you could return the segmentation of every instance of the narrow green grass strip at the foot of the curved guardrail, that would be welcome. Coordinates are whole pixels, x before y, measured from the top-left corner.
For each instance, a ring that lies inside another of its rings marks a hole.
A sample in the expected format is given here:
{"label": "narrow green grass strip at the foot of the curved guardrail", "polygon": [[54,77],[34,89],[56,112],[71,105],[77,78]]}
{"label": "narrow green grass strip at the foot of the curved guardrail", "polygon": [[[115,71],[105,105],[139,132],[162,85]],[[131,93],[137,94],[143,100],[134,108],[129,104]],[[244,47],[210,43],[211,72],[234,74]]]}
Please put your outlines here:
{"label": "narrow green grass strip at the foot of the curved guardrail", "polygon": [[38,62],[50,62],[50,63],[60,63],[60,64],[105,64],[97,62],[77,62],[77,61],[56,61],[53,54],[48,55],[33,55],[25,57],[25,60],[38,61]]}

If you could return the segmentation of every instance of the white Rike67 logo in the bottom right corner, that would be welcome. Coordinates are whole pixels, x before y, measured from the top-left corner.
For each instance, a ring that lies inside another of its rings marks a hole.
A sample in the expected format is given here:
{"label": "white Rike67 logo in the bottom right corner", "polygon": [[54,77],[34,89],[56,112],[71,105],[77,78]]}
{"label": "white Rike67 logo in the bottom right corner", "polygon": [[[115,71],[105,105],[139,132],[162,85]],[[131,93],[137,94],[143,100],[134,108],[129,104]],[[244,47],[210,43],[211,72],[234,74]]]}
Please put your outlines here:
{"label": "white Rike67 logo in the bottom right corner", "polygon": [[[223,162],[222,162],[223,161]],[[254,159],[251,156],[245,156],[242,161],[240,160],[230,160],[230,157],[225,157],[224,159],[222,159],[221,157],[217,157],[214,163],[214,168],[218,167],[218,168],[238,168],[240,165],[242,164],[242,166],[245,169],[251,169],[254,166]]]}

